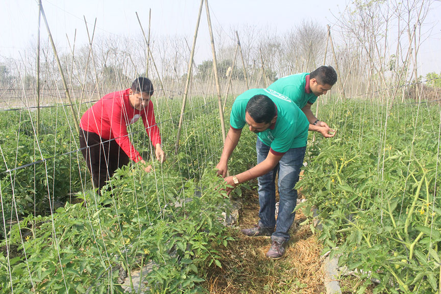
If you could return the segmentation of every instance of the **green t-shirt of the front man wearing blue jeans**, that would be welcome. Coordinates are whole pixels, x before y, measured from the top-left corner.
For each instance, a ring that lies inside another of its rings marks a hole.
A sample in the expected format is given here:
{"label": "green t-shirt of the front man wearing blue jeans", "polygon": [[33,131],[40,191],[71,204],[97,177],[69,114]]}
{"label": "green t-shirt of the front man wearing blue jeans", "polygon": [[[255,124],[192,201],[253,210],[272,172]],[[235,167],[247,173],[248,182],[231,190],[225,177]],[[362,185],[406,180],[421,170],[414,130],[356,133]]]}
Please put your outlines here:
{"label": "green t-shirt of the front man wearing blue jeans", "polygon": [[288,97],[269,89],[251,89],[237,96],[231,109],[230,125],[242,129],[246,125],[245,109],[254,95],[268,96],[277,107],[274,128],[257,133],[259,139],[277,153],[306,146],[309,122],[306,115]]}

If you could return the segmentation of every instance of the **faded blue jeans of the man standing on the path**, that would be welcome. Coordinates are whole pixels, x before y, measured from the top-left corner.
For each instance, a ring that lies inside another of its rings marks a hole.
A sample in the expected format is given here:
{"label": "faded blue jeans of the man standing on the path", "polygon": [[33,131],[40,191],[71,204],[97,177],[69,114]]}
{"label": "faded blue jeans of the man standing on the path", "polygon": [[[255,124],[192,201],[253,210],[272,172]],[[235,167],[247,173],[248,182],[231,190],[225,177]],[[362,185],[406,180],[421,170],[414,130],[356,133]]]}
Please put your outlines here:
{"label": "faded blue jeans of the man standing on the path", "polygon": [[[265,160],[269,146],[257,138],[256,143],[257,163]],[[274,228],[275,237],[282,237],[289,241],[289,229],[294,221],[297,204],[297,190],[294,188],[299,181],[300,168],[305,157],[305,147],[289,149],[280,159],[276,167],[266,175],[258,178],[259,204],[261,227]],[[279,173],[279,214],[276,224],[276,173]]]}

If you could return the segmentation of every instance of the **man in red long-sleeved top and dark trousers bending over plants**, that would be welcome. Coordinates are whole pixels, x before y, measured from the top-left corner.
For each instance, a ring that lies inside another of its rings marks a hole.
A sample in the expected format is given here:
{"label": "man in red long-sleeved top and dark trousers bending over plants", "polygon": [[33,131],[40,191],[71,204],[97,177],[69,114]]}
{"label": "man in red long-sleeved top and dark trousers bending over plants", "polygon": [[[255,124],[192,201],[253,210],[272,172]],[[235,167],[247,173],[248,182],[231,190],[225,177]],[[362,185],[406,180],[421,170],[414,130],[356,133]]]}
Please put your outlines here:
{"label": "man in red long-sleeved top and dark trousers bending over plants", "polygon": [[[142,118],[145,131],[155,146],[155,155],[164,162],[159,128],[155,122],[152,82],[138,78],[130,89],[105,95],[81,117],[80,146],[87,168],[92,174],[94,188],[101,188],[114,171],[129,163],[130,159],[145,164],[130,142],[127,127]],[[148,173],[151,165],[145,166]]]}

